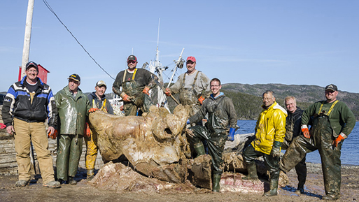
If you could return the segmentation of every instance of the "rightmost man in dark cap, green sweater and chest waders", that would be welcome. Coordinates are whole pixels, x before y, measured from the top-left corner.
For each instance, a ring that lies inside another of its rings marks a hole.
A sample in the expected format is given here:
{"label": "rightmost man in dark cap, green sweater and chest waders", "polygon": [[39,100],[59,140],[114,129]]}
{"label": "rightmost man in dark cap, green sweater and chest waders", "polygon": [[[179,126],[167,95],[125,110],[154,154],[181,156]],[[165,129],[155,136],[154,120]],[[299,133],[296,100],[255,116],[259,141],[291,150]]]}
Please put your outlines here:
{"label": "rightmost man in dark cap, green sweater and chest waders", "polygon": [[[305,157],[305,154],[319,151],[324,177],[324,200],[337,200],[340,197],[341,161],[340,150],[343,140],[356,125],[356,118],[342,101],[337,100],[336,85],[325,87],[325,101],[318,101],[304,110],[302,114],[302,133],[293,140],[283,159],[281,169],[290,171]],[[309,131],[309,120],[313,117]]]}

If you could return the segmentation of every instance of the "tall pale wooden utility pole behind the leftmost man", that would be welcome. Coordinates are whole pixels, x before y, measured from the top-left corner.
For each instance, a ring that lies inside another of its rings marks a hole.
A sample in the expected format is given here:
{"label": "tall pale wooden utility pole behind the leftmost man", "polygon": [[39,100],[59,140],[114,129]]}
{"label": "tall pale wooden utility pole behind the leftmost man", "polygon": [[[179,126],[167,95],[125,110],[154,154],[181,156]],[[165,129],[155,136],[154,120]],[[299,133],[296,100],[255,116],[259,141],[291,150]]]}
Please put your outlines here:
{"label": "tall pale wooden utility pole behind the leftmost man", "polygon": [[29,62],[30,52],[30,39],[31,39],[31,26],[32,26],[32,13],[34,13],[34,1],[29,0],[27,4],[27,15],[25,25],[25,36],[24,36],[24,48],[22,49],[22,63],[21,63],[21,79],[26,75],[25,65]]}

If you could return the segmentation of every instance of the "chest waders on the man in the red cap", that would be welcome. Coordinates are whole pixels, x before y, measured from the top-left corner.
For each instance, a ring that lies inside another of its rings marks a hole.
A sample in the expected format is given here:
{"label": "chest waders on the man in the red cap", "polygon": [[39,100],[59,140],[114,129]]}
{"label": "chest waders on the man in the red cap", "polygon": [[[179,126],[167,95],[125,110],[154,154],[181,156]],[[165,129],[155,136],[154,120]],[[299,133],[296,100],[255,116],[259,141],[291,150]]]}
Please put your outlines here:
{"label": "chest waders on the man in the red cap", "polygon": [[195,93],[195,84],[197,81],[198,73],[199,73],[199,71],[197,71],[197,74],[195,76],[195,79],[193,80],[191,87],[185,87],[185,75],[186,74],[184,74],[183,79],[182,79],[182,85],[179,90],[181,104],[183,106],[184,105],[190,106],[190,115],[189,115],[190,117],[192,115],[195,115],[195,113],[197,113],[197,111],[199,111],[199,108],[200,108],[199,102],[198,102],[199,96]]}

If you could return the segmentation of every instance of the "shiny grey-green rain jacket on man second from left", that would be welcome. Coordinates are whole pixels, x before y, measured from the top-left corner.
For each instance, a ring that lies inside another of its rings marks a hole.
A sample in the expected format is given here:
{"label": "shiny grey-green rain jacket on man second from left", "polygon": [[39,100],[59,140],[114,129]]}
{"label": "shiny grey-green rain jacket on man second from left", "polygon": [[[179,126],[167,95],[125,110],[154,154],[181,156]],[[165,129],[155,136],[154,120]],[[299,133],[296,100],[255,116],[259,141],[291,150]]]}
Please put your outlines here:
{"label": "shiny grey-green rain jacket on man second from left", "polygon": [[90,101],[78,89],[73,98],[69,86],[64,87],[55,95],[57,110],[59,111],[59,133],[81,135],[85,132],[85,122],[90,110]]}

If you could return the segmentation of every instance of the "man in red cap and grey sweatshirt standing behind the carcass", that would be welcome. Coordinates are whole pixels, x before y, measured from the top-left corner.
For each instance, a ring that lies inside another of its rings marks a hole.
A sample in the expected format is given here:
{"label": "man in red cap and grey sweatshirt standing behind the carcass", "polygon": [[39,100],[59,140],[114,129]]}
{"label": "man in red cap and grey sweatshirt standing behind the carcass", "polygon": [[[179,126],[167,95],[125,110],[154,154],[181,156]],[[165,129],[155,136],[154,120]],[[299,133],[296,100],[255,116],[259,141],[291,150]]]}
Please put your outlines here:
{"label": "man in red cap and grey sweatshirt standing behind the carcass", "polygon": [[174,85],[166,88],[166,95],[179,93],[180,103],[190,106],[191,117],[201,108],[204,99],[209,97],[211,89],[209,88],[209,78],[202,71],[196,69],[195,57],[188,57],[186,66],[187,72],[179,75]]}

